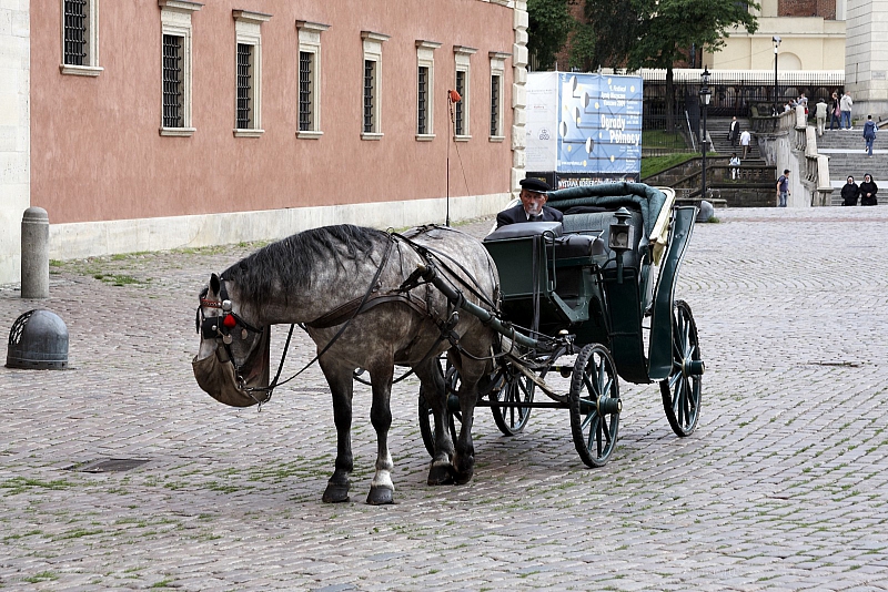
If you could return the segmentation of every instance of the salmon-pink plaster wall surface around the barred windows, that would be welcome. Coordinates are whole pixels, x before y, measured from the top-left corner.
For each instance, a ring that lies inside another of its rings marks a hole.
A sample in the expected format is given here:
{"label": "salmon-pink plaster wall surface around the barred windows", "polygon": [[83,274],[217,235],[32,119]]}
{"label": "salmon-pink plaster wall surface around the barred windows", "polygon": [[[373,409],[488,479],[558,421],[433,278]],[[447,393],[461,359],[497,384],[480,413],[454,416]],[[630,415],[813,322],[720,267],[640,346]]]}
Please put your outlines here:
{"label": "salmon-pink plaster wall surface around the barred windows", "polygon": [[[52,224],[264,211],[511,191],[512,60],[503,75],[505,141],[490,141],[488,52],[511,53],[513,9],[482,0],[204,0],[191,17],[190,137],[161,136],[161,9],[102,0],[98,76],[60,73],[61,2],[31,11],[31,205]],[[232,10],[271,14],[261,25],[261,137],[234,137]],[[321,131],[297,139],[296,21],[321,33]],[[382,44],[384,136],[361,139],[361,31]],[[416,132],[416,40],[434,51],[434,133]],[[454,45],[471,57],[472,139],[454,143],[446,91]],[[458,154],[457,154],[458,150]]]}

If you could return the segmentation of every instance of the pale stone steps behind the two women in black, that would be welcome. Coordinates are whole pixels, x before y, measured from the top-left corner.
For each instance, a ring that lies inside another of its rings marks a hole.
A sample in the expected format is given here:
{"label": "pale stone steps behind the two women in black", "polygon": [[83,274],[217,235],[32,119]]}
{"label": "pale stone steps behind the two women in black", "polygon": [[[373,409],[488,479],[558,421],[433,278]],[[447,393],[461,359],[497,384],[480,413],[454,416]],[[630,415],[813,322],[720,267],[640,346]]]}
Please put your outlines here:
{"label": "pale stone steps behind the two women in black", "polygon": [[877,134],[871,157],[864,147],[864,130],[860,125],[847,131],[827,129],[817,139],[817,152],[829,156],[831,205],[841,205],[841,186],[848,175],[854,176],[859,185],[866,173],[872,175],[872,181],[880,188],[879,205],[888,203],[888,129]]}

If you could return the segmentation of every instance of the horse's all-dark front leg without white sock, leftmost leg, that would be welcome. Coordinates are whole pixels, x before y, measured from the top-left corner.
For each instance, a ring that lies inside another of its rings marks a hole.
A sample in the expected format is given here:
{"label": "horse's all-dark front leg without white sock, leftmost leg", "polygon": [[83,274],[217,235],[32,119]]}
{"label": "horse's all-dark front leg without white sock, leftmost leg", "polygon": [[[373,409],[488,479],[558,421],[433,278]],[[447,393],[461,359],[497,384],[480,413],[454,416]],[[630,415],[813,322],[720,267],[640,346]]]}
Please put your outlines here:
{"label": "horse's all-dark front leg without white sock, leftmost leg", "polygon": [[333,422],[336,425],[336,465],[333,476],[326,483],[325,503],[349,501],[349,476],[354,468],[352,457],[352,394],[354,384],[350,368],[320,361],[333,395]]}

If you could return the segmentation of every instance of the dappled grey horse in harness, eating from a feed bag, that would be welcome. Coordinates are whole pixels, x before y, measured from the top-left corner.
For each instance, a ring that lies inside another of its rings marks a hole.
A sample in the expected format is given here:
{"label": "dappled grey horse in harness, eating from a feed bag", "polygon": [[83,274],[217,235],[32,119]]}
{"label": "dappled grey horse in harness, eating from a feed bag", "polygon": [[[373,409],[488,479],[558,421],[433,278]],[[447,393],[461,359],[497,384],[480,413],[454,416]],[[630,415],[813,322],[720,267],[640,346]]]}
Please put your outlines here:
{"label": "dappled grey horse in harness, eating from a feed bag", "polygon": [[[389,428],[395,365],[413,368],[435,418],[428,484],[465,483],[472,478],[477,382],[492,367],[496,334],[472,315],[452,315],[447,299],[435,287],[407,282],[430,261],[471,302],[487,309],[497,302],[498,276],[487,251],[477,239],[441,226],[402,235],[351,225],[305,231],[258,251],[221,275],[213,274],[201,294],[199,327],[203,330],[194,376],[201,388],[228,405],[246,407],[270,396],[262,389],[269,385],[268,327],[305,325],[333,395],[337,431],[335,471],[324,491],[325,502],[349,500],[353,371],[357,368],[371,377],[370,418],[377,438],[367,503],[392,503]],[[444,378],[437,363],[445,350],[461,377],[463,420],[455,446],[447,429]]]}

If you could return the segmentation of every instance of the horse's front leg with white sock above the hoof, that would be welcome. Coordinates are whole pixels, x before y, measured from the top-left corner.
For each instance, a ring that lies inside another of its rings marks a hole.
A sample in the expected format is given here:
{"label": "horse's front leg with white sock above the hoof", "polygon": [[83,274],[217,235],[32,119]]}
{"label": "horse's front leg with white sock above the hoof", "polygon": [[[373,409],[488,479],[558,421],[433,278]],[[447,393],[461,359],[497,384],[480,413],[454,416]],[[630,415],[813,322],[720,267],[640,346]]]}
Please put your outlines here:
{"label": "horse's front leg with white sock above the hoof", "polygon": [[389,452],[389,429],[392,427],[392,378],[394,365],[383,365],[371,370],[373,405],[370,408],[370,422],[376,430],[376,472],[370,482],[367,503],[382,506],[393,503],[395,486],[392,482],[392,455]]}

